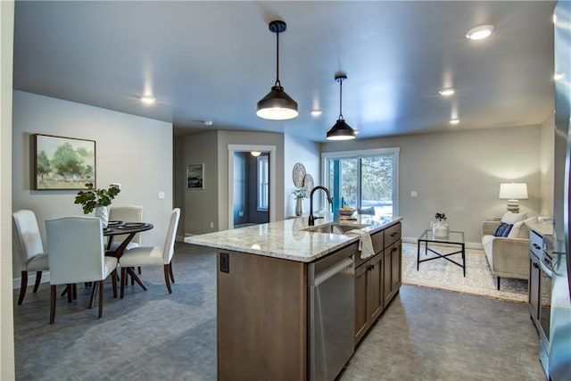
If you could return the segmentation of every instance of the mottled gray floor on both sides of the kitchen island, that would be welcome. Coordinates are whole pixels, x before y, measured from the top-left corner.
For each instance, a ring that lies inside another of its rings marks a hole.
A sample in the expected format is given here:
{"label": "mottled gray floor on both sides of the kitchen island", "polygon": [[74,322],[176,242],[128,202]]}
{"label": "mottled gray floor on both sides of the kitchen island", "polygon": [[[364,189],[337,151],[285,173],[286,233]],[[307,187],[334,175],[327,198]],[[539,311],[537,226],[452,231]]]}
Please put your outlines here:
{"label": "mottled gray floor on both sides of the kitchen island", "polygon": [[[122,300],[108,282],[103,319],[79,286],[77,301],[58,299],[52,326],[49,286],[29,287],[14,306],[17,379],[215,380],[215,254],[177,244],[173,269],[173,294],[162,269],[143,269],[148,291],[128,286]],[[525,303],[402,286],[339,378],[544,380],[538,352]]]}

